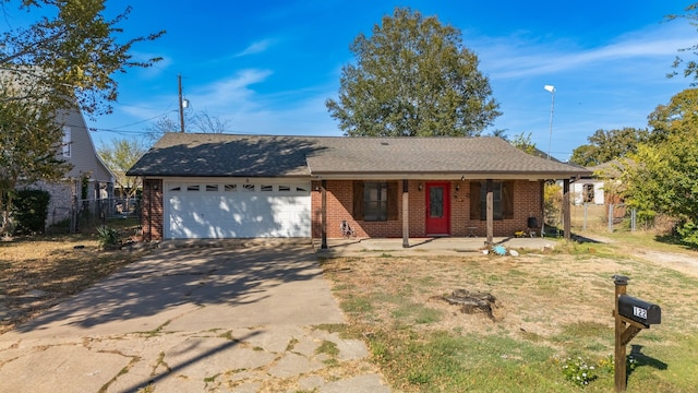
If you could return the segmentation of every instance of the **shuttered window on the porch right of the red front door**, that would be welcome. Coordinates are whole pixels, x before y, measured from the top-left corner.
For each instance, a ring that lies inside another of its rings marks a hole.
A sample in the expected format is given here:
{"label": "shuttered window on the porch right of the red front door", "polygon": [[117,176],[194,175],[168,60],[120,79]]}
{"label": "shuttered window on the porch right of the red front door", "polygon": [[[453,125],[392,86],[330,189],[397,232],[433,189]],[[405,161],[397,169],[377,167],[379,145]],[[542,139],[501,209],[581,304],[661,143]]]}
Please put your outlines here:
{"label": "shuttered window on the porch right of the red front door", "polygon": [[[514,218],[514,182],[492,181],[493,218]],[[470,219],[488,219],[488,182],[470,183]]]}

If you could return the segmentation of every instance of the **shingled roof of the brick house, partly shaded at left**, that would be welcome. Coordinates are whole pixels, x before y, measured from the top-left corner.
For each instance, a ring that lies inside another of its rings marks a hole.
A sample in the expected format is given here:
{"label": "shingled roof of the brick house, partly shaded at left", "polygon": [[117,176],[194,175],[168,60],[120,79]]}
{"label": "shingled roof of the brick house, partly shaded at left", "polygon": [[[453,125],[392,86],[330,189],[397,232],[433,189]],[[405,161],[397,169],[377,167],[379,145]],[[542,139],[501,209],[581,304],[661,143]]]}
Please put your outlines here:
{"label": "shingled roof of the brick house, partly shaded at left", "polygon": [[128,172],[149,177],[567,178],[588,169],[492,136],[348,138],[168,133]]}

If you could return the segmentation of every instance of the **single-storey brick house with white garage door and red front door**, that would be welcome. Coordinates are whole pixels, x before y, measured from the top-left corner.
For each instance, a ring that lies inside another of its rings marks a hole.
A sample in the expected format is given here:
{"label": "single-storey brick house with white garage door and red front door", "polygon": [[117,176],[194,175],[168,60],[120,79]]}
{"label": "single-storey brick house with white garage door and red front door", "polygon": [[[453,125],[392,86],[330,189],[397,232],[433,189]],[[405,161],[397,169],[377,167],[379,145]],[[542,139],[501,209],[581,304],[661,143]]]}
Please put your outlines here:
{"label": "single-storey brick house with white garage door and red front door", "polygon": [[512,236],[542,223],[546,180],[568,191],[589,172],[489,136],[168,133],[128,175],[144,180],[146,240],[325,240],[345,222],[358,237]]}

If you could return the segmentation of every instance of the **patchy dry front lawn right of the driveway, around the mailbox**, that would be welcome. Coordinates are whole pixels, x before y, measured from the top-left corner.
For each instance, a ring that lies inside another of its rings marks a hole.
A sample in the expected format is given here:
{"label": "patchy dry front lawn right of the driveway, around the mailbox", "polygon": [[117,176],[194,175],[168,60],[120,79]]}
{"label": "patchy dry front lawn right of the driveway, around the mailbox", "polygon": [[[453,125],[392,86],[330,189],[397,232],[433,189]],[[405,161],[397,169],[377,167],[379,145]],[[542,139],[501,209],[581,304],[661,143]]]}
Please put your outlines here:
{"label": "patchy dry front lawn right of the driveway, around the mailbox", "polygon": [[[365,337],[396,391],[613,391],[613,274],[631,278],[628,295],[662,308],[662,324],[627,347],[628,391],[694,390],[698,275],[618,250],[570,245],[518,258],[384,254],[325,260],[323,267],[348,329]],[[455,289],[492,294],[492,317],[444,301]],[[589,384],[575,383],[583,380]]]}

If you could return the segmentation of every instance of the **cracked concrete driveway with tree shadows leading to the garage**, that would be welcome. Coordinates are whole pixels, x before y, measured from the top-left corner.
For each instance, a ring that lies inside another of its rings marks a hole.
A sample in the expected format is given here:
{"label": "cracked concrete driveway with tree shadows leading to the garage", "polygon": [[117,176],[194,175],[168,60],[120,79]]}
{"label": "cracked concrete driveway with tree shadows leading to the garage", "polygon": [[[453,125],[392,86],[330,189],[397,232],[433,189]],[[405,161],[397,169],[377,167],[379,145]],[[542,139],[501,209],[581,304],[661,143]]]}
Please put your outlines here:
{"label": "cracked concrete driveway with tree shadows leading to the garage", "polygon": [[160,249],[0,335],[0,391],[389,392],[344,322],[310,245]]}

